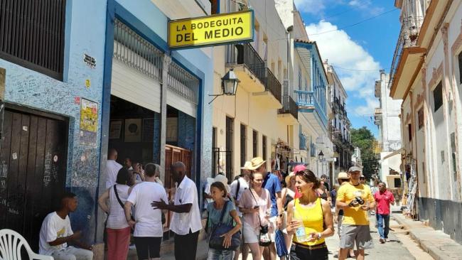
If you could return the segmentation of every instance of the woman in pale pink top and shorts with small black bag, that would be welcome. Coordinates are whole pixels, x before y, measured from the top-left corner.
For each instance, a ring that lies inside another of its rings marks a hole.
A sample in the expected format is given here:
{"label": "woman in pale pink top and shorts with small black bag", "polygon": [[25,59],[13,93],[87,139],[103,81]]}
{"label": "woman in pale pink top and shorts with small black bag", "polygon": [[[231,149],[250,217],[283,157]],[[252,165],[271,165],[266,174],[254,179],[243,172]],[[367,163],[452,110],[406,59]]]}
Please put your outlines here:
{"label": "woman in pale pink top and shorts with small black bag", "polygon": [[245,244],[248,244],[252,251],[252,259],[262,258],[263,247],[259,246],[260,226],[269,224],[269,210],[271,210],[271,200],[269,191],[262,188],[262,173],[252,173],[250,175],[250,187],[242,193],[239,201],[239,210],[244,214],[243,236]]}

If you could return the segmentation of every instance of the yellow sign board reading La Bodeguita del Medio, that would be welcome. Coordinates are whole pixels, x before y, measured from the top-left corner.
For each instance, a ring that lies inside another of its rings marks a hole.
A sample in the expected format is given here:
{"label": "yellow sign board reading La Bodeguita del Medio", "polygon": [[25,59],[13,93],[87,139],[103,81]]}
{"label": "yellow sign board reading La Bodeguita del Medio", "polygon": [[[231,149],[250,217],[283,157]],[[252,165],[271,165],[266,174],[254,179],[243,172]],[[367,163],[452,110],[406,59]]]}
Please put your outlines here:
{"label": "yellow sign board reading La Bodeguita del Medio", "polygon": [[253,39],[252,10],[168,22],[168,47],[216,45]]}

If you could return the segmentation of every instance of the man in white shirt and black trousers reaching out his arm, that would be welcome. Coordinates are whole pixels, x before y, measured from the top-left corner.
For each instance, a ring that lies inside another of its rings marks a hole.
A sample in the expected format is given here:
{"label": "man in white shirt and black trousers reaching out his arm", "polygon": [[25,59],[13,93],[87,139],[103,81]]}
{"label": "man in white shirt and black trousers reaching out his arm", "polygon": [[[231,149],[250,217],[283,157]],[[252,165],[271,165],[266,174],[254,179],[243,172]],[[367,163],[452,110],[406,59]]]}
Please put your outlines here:
{"label": "man in white shirt and black trousers reaching out his arm", "polygon": [[202,229],[198,189],[193,180],[186,176],[184,163],[173,163],[171,175],[177,186],[173,205],[166,204],[166,200],[154,200],[151,206],[173,211],[170,229],[175,232],[175,259],[195,260],[199,231]]}

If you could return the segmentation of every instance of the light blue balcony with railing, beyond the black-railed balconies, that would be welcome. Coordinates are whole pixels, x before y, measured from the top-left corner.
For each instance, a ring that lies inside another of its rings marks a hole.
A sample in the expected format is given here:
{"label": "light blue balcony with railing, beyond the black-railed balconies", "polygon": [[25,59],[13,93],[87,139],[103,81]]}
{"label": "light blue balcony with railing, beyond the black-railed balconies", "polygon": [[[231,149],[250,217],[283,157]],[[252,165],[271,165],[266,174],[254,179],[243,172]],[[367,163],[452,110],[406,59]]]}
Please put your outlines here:
{"label": "light blue balcony with railing, beyond the black-railed balconies", "polygon": [[[316,114],[314,117],[308,118],[311,121],[312,125],[318,131],[318,133],[323,134],[323,129],[327,128],[327,115],[325,109],[323,109],[316,98],[316,95],[313,91],[304,91],[304,90],[295,90],[296,93],[296,104],[299,106],[301,112],[308,112],[308,114]],[[322,126],[319,124],[321,121]]]}

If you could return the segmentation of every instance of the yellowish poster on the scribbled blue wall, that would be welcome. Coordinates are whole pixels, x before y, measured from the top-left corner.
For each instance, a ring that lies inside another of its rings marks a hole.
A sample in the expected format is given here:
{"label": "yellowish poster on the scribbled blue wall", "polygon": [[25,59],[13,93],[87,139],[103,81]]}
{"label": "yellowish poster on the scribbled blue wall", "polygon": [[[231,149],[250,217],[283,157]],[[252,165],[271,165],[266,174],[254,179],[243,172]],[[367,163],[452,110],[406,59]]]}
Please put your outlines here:
{"label": "yellowish poster on the scribbled blue wall", "polygon": [[88,99],[80,101],[80,144],[97,145],[98,103]]}

